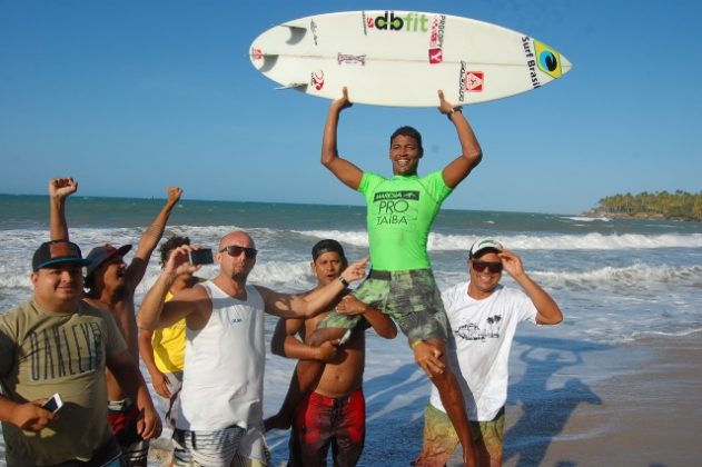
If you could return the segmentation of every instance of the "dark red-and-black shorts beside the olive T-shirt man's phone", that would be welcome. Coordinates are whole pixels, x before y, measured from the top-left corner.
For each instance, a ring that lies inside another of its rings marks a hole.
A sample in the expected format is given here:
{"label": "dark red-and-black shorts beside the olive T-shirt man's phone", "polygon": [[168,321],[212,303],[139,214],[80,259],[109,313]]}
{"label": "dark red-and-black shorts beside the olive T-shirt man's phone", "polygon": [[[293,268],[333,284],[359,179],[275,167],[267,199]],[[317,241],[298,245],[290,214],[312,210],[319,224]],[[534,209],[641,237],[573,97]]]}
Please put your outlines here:
{"label": "dark red-and-black shorts beside the olive T-shirt man's phone", "polygon": [[146,466],[149,455],[149,441],[141,438],[137,430],[139,409],[130,398],[107,403],[107,419],[112,427],[122,457],[128,466]]}

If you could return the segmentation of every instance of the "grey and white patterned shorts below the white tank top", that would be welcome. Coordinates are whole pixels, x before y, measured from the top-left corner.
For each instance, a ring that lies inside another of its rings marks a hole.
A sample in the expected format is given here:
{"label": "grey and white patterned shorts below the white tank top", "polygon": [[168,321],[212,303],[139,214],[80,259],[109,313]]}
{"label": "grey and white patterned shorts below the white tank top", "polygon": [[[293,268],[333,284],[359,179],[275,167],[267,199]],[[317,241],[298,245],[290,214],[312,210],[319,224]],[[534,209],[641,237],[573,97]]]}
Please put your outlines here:
{"label": "grey and white patterned shorts below the white tank top", "polygon": [[270,465],[270,453],[263,429],[247,433],[246,428],[236,425],[212,431],[176,429],[174,441],[182,447],[182,450],[174,453],[174,465],[179,467]]}

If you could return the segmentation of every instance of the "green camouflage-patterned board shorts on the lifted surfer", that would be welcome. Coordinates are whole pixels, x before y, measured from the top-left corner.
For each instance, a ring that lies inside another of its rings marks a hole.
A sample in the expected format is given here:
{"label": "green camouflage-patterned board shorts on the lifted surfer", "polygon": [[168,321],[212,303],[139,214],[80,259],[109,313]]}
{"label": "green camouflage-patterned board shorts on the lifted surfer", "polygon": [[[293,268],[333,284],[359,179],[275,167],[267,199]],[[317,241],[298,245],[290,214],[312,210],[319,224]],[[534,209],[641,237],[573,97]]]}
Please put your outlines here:
{"label": "green camouflage-patterned board shorts on the lifted surfer", "polygon": [[[448,318],[431,269],[372,270],[353,295],[393,318],[409,342],[447,340]],[[359,316],[346,316],[334,310],[318,327],[350,329],[358,319]]]}

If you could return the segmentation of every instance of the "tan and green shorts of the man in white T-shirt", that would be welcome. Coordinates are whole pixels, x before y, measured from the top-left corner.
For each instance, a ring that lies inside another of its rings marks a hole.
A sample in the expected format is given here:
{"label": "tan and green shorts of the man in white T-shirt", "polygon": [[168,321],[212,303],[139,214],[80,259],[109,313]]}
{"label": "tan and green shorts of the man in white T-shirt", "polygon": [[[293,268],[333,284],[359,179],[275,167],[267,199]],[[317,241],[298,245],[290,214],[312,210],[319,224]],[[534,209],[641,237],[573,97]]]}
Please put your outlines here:
{"label": "tan and green shorts of the man in white T-shirt", "polygon": [[[476,448],[477,465],[502,465],[504,426],[504,407],[490,421],[471,420],[471,434]],[[458,446],[458,435],[456,435],[448,415],[428,404],[424,410],[424,446],[419,458],[414,465],[418,467],[443,467]]]}

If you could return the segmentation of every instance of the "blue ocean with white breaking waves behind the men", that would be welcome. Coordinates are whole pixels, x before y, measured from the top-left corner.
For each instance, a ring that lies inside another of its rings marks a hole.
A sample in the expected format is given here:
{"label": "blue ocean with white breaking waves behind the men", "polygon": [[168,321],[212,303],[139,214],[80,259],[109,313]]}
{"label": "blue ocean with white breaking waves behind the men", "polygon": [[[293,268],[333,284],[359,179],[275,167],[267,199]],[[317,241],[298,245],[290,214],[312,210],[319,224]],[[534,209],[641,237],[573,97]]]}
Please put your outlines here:
{"label": "blue ocean with white breaking waves behind the men", "polygon": [[[162,203],[73,196],[67,208],[71,239],[83,252],[106,241],[137,244]],[[0,312],[31,297],[30,261],[48,239],[48,211],[46,196],[0,195]],[[187,235],[216,248],[234,229],[247,230],[259,249],[249,281],[277,290],[314,286],[308,265],[310,248],[319,239],[339,240],[352,259],[368,254],[365,209],[358,206],[182,200],[166,236]],[[535,384],[556,390],[573,379],[580,386],[571,387],[582,391],[575,395],[586,401],[589,385],[613,376],[612,358],[617,364],[631,360],[632,368],[645,359],[627,354],[629,342],[702,330],[702,223],[445,209],[428,244],[439,288],[465,280],[466,251],[484,236],[520,255],[527,274],[552,294],[565,316],[557,327],[523,325],[517,331],[511,404],[540,397],[533,395]],[[158,274],[154,257],[137,301]],[[211,277],[216,269],[205,267],[201,275]],[[503,284],[515,286],[506,275]],[[267,337],[274,326],[270,318]],[[268,355],[266,415],[280,404],[293,367],[294,361]],[[541,368],[536,376],[535,368]],[[383,465],[407,465],[421,447],[429,382],[414,365],[404,337],[387,341],[368,332],[365,393],[368,426],[360,465],[379,465],[377,459]],[[280,465],[287,456],[287,434],[274,431],[268,443],[274,465]],[[507,431],[505,459],[522,448],[511,444]]]}

